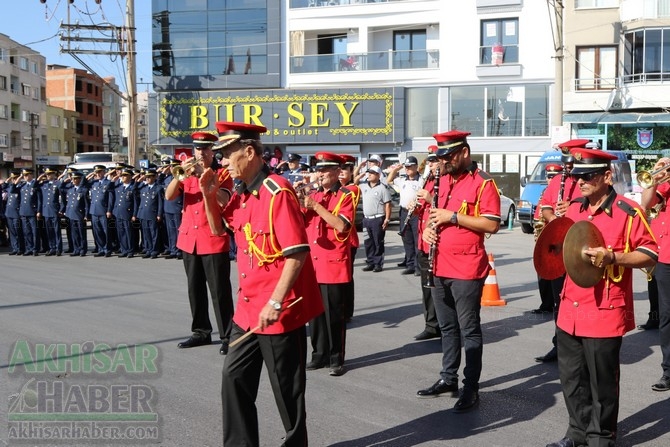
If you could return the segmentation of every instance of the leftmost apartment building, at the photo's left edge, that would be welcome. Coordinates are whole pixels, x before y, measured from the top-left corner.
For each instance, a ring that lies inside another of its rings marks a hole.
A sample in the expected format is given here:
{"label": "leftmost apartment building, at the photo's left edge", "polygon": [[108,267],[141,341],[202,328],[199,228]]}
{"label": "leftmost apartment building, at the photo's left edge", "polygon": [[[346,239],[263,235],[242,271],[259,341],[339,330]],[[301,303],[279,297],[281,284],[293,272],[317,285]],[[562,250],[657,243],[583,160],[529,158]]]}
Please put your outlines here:
{"label": "leftmost apartment building, at the photo's left edge", "polygon": [[46,154],[46,61],[0,34],[0,174]]}

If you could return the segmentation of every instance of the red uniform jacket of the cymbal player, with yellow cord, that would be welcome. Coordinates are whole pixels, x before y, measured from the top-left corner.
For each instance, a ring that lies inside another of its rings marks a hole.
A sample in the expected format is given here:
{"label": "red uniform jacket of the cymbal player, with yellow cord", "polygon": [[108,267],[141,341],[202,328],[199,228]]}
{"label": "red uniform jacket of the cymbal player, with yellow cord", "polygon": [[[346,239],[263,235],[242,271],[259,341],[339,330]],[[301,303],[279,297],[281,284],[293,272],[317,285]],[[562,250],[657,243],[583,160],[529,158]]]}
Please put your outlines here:
{"label": "red uniform jacket of the cymbal player, with yellow cord", "polygon": [[[591,221],[600,229],[609,250],[639,250],[653,259],[658,256],[658,246],[639,205],[612,188],[594,214],[589,213],[588,201],[580,198],[570,204],[566,216],[575,222]],[[604,276],[595,286],[582,288],[566,275],[558,327],[571,335],[591,338],[619,337],[635,328],[632,270],[611,265]]]}

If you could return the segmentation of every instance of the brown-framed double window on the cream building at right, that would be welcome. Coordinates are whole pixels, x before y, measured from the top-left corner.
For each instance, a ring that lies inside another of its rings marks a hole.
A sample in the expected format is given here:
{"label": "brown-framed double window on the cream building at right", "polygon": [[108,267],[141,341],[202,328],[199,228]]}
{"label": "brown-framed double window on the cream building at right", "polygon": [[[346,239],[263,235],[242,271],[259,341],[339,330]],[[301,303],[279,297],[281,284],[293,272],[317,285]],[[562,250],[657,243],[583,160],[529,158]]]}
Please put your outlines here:
{"label": "brown-framed double window on the cream building at right", "polygon": [[611,90],[616,87],[616,47],[577,47],[577,90]]}

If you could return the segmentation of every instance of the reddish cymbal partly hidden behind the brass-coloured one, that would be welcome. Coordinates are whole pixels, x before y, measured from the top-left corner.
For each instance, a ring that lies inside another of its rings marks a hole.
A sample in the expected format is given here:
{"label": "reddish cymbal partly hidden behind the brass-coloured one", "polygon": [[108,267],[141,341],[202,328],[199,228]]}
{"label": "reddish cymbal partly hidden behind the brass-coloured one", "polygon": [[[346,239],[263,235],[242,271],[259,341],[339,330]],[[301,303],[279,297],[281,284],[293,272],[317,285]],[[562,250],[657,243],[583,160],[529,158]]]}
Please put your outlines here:
{"label": "reddish cymbal partly hidden behind the brass-coloured one", "polygon": [[533,251],[533,265],[540,278],[552,280],[565,275],[563,241],[574,223],[569,217],[558,217],[544,226]]}

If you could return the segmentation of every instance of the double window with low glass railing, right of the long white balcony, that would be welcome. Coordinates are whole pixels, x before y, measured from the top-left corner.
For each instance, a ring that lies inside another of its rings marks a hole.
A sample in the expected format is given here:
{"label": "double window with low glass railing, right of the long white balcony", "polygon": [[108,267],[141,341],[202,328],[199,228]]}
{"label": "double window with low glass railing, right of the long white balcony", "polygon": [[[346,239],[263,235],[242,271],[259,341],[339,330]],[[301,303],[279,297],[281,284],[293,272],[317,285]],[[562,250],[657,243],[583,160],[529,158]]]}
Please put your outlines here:
{"label": "double window with low glass railing, right of the long white balcony", "polygon": [[482,20],[479,63],[519,62],[519,19]]}

